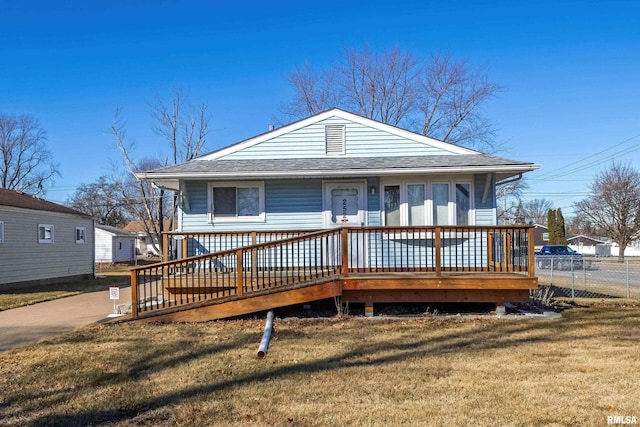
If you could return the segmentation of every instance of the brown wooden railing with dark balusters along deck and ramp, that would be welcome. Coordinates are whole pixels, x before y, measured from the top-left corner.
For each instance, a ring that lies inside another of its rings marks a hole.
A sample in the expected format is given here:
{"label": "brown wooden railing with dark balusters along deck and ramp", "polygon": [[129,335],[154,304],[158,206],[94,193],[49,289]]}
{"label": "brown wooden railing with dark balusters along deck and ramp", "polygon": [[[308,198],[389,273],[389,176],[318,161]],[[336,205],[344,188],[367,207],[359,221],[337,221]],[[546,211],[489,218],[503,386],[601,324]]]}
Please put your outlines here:
{"label": "brown wooden railing with dark balusters along deck and ramp", "polygon": [[[309,286],[352,273],[534,272],[533,228],[354,227],[316,232],[170,233],[190,255],[131,271],[133,315]],[[287,237],[297,234],[295,237]],[[248,237],[247,237],[248,236]],[[257,242],[259,238],[266,241]],[[247,240],[250,239],[250,240]],[[216,250],[235,241],[238,246]],[[186,243],[184,243],[186,242]],[[247,242],[249,242],[247,244]]]}

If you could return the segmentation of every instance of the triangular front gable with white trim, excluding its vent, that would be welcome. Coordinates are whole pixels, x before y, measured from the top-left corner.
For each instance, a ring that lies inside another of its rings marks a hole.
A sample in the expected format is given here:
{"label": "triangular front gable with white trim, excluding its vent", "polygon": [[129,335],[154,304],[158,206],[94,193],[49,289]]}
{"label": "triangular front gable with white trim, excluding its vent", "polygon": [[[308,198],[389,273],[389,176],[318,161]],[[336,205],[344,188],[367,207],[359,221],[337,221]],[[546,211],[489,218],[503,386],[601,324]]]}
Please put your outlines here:
{"label": "triangular front gable with white trim, excluding its vent", "polygon": [[344,157],[480,154],[334,108],[196,160],[333,157],[335,154],[327,154],[325,129],[336,126],[345,129],[344,152],[340,153]]}

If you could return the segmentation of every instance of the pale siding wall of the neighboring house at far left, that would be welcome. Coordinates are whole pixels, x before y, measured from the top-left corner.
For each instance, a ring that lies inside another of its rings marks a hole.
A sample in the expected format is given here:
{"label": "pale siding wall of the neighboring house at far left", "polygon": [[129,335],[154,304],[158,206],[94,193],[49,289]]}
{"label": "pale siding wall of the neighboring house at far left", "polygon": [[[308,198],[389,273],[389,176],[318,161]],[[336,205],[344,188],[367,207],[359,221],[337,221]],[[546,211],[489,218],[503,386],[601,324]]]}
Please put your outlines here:
{"label": "pale siding wall of the neighboring house at far left", "polygon": [[[93,274],[92,219],[0,206],[0,221],[0,285]],[[38,224],[54,226],[53,243],[38,243]],[[76,227],[85,227],[85,243],[76,243]]]}

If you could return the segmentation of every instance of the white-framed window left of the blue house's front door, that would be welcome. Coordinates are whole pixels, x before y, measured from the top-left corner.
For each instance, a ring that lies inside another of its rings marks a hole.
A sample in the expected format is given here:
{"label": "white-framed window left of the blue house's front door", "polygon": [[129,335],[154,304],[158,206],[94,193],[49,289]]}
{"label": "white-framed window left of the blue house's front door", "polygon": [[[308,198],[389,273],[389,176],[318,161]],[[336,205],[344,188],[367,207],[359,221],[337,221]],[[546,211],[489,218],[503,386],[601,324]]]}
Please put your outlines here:
{"label": "white-framed window left of the blue house's front door", "polygon": [[210,221],[264,221],[262,182],[209,184]]}

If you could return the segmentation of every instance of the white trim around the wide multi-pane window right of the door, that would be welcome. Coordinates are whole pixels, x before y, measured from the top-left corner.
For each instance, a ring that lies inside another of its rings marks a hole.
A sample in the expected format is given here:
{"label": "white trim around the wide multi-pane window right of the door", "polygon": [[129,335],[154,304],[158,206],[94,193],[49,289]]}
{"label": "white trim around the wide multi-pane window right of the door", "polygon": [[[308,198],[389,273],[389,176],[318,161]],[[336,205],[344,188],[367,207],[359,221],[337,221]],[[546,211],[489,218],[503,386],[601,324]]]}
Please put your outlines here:
{"label": "white trim around the wide multi-pane window right of the door", "polygon": [[475,225],[475,198],[474,198],[474,186],[473,181],[468,179],[454,179],[454,180],[437,180],[437,181],[388,181],[380,183],[380,219],[381,224],[386,226],[386,215],[384,211],[384,187],[397,185],[400,187],[400,226],[409,226],[409,185],[425,185],[425,227],[433,227],[433,184],[448,184],[449,185],[449,203],[447,204],[447,211],[449,213],[449,224],[457,225],[456,215],[456,184],[468,184],[469,185],[469,226]]}

